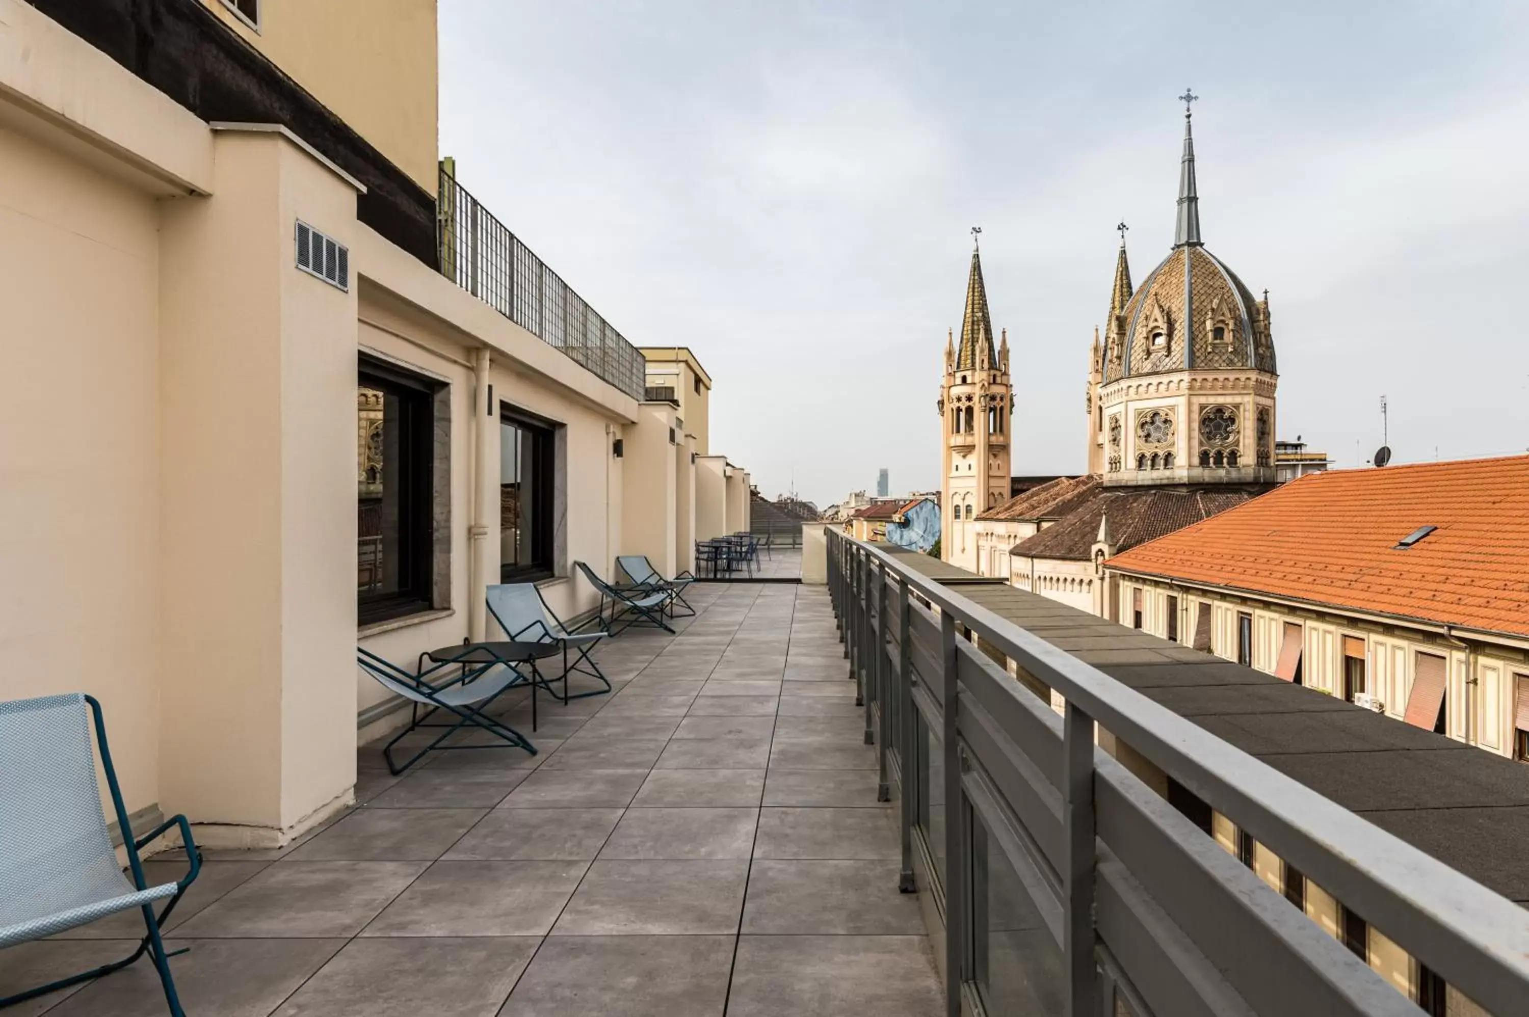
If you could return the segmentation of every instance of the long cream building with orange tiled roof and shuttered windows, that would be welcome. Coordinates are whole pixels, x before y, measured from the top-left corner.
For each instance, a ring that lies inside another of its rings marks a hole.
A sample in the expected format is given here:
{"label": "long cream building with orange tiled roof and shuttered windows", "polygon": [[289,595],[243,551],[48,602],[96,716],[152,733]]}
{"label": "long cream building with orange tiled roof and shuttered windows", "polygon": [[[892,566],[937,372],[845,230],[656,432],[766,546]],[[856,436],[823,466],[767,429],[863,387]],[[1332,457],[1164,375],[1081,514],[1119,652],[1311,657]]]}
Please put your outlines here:
{"label": "long cream building with orange tiled roof and shuttered windows", "polygon": [[1318,473],[1110,557],[1112,609],[1529,760],[1529,529],[1500,511],[1524,494],[1524,456]]}

